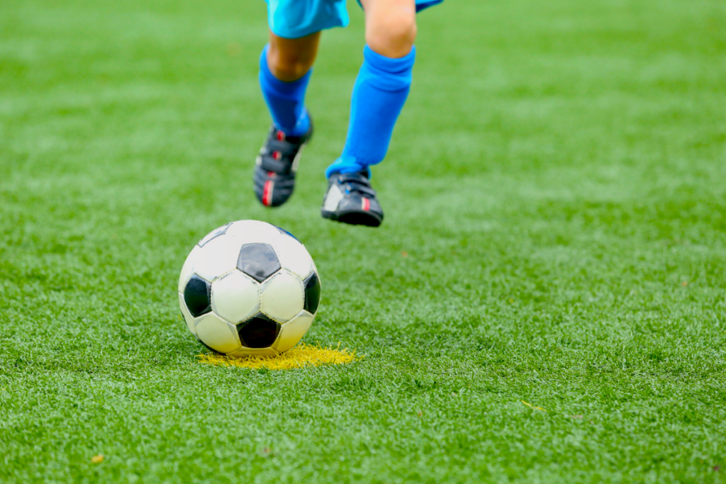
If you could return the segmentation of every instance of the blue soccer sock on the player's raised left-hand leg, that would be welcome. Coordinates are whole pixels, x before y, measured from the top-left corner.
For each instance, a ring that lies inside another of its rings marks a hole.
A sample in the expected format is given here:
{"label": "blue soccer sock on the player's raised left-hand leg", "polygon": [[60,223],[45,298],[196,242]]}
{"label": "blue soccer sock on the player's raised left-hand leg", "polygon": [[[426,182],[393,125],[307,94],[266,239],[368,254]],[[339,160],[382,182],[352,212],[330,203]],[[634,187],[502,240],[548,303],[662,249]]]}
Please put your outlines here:
{"label": "blue soccer sock on the player's raised left-hand leg", "polygon": [[302,136],[310,128],[310,118],[305,109],[305,91],[312,69],[297,81],[280,81],[269,70],[267,49],[268,46],[265,46],[260,56],[260,87],[272,122],[287,136]]}

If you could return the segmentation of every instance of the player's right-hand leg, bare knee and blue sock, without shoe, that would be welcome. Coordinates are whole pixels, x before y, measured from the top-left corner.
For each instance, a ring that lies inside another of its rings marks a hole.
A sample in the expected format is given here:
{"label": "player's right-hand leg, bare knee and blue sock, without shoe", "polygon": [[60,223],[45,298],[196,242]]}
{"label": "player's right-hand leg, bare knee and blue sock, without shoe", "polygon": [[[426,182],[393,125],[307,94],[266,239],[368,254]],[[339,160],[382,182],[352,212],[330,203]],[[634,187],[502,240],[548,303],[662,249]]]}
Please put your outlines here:
{"label": "player's right-hand leg, bare knee and blue sock, without shoe", "polygon": [[362,0],[364,62],[353,89],[343,154],[326,175],[355,173],[380,163],[408,97],[415,59],[415,0]]}

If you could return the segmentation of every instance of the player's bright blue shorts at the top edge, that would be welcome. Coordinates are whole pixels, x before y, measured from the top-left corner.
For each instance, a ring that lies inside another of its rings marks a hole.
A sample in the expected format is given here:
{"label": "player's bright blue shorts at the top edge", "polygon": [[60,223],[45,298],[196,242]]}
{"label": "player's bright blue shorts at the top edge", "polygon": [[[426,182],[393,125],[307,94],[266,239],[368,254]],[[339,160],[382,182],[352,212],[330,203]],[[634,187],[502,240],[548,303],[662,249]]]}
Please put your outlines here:
{"label": "player's bright blue shorts at the top edge", "polygon": [[[270,30],[282,38],[301,38],[350,22],[346,0],[265,0]],[[416,11],[444,0],[416,0]]]}

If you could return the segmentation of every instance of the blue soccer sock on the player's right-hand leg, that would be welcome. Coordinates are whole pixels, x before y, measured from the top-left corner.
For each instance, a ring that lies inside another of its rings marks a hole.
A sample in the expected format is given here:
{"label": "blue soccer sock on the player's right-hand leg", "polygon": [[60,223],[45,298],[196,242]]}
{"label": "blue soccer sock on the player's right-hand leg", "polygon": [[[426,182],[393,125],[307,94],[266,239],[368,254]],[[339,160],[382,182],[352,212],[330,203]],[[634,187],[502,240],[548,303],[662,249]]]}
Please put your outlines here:
{"label": "blue soccer sock on the player's right-hand leg", "polygon": [[411,88],[415,47],[406,57],[391,59],[365,46],[363,57],[363,66],[353,88],[346,147],[338,160],[327,168],[325,176],[328,178],[334,173],[368,170],[370,165],[383,161],[393,126],[396,126]]}

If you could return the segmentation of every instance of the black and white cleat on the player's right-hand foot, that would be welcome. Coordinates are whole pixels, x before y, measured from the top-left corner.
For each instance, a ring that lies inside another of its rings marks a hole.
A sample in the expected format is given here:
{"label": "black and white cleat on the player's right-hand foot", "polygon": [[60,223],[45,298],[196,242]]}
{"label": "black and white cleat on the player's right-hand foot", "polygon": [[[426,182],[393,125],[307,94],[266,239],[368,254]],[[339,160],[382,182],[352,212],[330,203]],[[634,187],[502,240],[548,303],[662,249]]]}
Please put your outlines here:
{"label": "black and white cleat on the player's right-hand foot", "polygon": [[366,171],[330,176],[320,213],[324,218],[351,225],[378,227],[383,223],[383,208]]}

